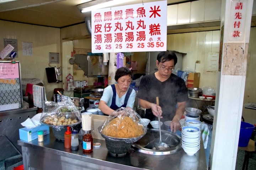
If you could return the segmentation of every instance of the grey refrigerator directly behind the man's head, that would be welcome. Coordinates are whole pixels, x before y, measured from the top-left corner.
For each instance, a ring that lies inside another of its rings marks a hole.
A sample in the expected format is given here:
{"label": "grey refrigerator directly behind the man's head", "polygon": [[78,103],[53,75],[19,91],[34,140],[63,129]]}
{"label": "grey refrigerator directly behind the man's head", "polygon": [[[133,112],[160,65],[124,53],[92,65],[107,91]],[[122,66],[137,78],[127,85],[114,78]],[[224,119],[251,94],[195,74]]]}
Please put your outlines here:
{"label": "grey refrigerator directly behind the man's head", "polygon": [[[151,73],[157,72],[158,67],[156,66],[156,60],[157,60],[157,55],[161,51],[151,51],[151,52],[146,52],[146,59],[147,59],[147,64],[146,64],[146,75],[149,75]],[[177,64],[175,65],[174,73],[176,75],[176,70],[180,68],[182,70],[182,54],[181,53],[175,53],[177,56]]]}

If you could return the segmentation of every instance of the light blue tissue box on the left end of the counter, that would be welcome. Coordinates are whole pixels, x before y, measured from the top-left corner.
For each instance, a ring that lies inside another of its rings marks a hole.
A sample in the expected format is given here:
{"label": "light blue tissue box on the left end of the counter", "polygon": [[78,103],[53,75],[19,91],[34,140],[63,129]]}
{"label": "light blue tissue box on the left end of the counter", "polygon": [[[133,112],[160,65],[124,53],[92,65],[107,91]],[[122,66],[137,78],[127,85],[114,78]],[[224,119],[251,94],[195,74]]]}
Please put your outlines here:
{"label": "light blue tissue box on the left end of the counter", "polygon": [[27,142],[33,141],[34,139],[38,138],[37,131],[44,131],[43,135],[47,135],[50,133],[49,126],[46,126],[46,125],[40,125],[33,128],[23,127],[23,128],[20,128],[19,131],[20,131],[20,139]]}

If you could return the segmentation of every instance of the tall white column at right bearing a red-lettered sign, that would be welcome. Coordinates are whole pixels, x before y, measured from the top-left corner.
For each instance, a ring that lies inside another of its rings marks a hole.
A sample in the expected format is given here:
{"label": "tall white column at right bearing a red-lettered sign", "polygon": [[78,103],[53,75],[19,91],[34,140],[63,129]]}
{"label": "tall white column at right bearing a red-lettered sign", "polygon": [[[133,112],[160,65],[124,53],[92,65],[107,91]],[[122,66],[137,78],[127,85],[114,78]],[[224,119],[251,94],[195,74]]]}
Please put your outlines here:
{"label": "tall white column at right bearing a red-lettered sign", "polygon": [[220,58],[210,166],[234,170],[246,78],[253,0],[222,0]]}

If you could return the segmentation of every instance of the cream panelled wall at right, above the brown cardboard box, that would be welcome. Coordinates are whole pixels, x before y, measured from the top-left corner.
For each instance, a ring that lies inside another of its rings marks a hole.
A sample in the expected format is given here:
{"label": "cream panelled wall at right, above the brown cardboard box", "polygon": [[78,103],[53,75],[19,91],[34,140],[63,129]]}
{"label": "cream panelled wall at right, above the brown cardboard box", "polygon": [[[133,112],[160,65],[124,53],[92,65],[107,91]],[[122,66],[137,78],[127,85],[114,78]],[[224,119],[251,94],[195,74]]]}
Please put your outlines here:
{"label": "cream panelled wall at right, above the brown cardboard box", "polygon": [[207,54],[219,52],[219,34],[220,31],[207,31],[167,35],[167,50],[187,53],[183,55],[183,71],[187,67],[195,70],[195,62],[201,61],[196,64],[196,72],[201,73],[200,88],[212,86],[216,89],[217,71],[207,72]]}

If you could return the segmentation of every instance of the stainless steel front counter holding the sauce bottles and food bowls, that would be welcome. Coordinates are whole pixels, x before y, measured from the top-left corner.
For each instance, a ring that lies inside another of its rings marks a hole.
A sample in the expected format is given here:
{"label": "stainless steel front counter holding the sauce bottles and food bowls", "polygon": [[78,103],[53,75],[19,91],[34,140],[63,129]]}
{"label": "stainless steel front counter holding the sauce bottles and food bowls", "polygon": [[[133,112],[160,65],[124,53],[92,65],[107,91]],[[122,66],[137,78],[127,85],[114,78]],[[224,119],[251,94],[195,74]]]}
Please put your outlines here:
{"label": "stainless steel front counter holding the sauce bottles and food bowls", "polygon": [[129,150],[124,157],[113,157],[108,153],[105,141],[100,142],[100,148],[94,148],[91,153],[83,153],[81,144],[79,150],[64,148],[64,142],[55,140],[52,133],[44,136],[44,142],[18,141],[22,146],[23,164],[25,170],[30,169],[152,169],[152,170],[207,170],[203,143],[200,150],[193,156],[188,156],[184,150],[164,156],[147,155]]}

